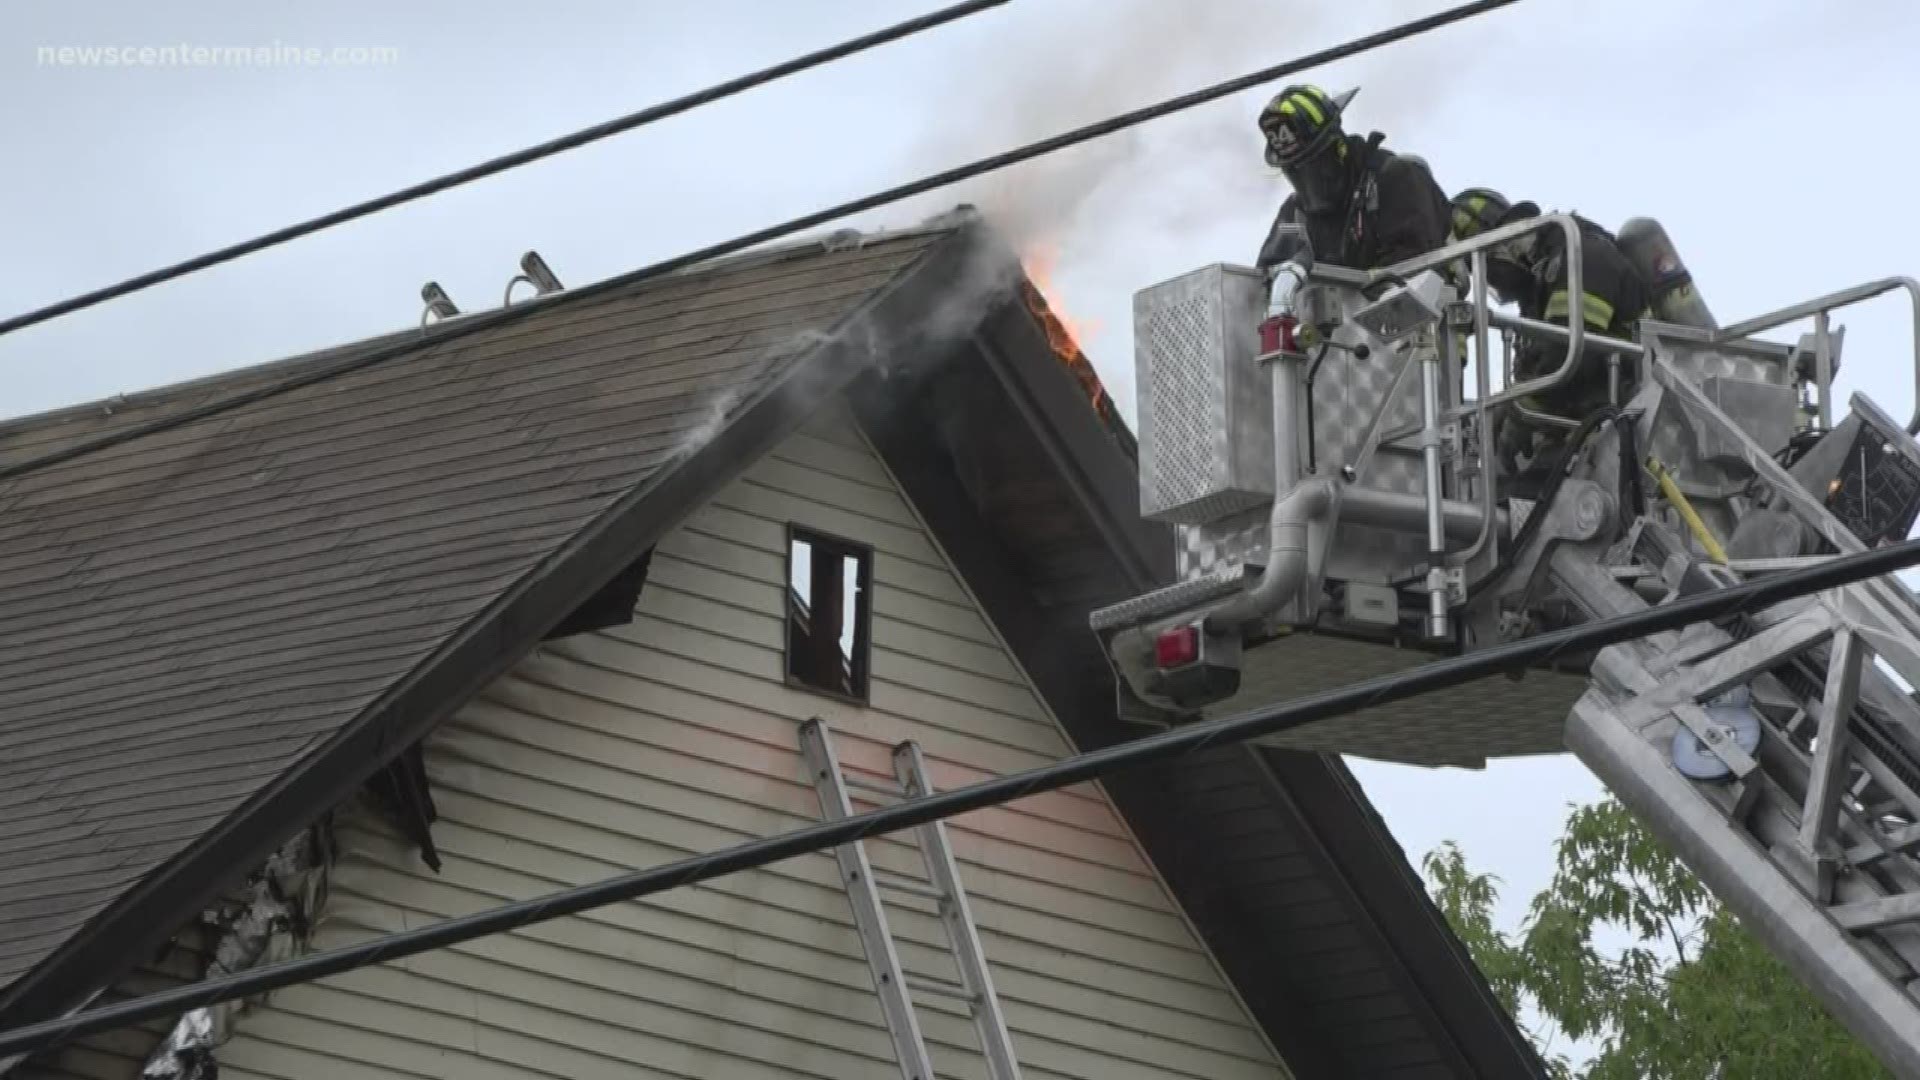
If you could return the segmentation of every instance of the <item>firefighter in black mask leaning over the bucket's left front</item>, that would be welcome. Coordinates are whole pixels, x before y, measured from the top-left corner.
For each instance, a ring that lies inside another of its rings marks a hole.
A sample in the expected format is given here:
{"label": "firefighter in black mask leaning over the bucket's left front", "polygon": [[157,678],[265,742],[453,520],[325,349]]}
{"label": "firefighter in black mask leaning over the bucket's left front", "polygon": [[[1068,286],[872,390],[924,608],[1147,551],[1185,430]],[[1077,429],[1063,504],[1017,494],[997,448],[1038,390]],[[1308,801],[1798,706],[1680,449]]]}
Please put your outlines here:
{"label": "firefighter in black mask leaning over the bucket's left front", "polygon": [[[1319,86],[1286,86],[1260,111],[1260,133],[1267,163],[1294,188],[1275,227],[1306,225],[1315,261],[1377,269],[1446,244],[1450,206],[1425,161],[1380,148],[1380,133],[1359,136],[1340,127],[1356,92],[1332,98]],[[1260,269],[1296,254],[1275,233],[1260,248]]]}

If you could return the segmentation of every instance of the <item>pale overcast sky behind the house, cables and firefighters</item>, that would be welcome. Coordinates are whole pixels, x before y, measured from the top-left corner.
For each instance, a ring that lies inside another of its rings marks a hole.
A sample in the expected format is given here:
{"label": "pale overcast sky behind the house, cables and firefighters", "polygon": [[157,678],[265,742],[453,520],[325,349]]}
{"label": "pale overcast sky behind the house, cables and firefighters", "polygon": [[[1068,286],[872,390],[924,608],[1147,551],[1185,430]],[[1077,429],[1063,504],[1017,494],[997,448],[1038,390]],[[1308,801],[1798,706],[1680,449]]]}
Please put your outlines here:
{"label": "pale overcast sky behind the house, cables and firefighters", "polygon": [[[12,0],[0,171],[13,313],[933,10],[933,0]],[[0,415],[419,321],[434,279],[499,304],[520,252],[568,284],[1052,135],[1442,8],[1392,0],[1014,0],[718,106],[0,338]],[[369,46],[380,65],[46,65],[42,46]],[[1609,227],[1667,223],[1722,321],[1920,271],[1910,0],[1523,0],[1311,77],[1359,131]],[[1131,138],[852,225],[972,200],[1058,258],[1056,302],[1133,411],[1135,290],[1250,261],[1284,196],[1252,90]],[[1843,392],[1914,407],[1908,311],[1841,319]],[[1457,838],[1549,872],[1571,757],[1488,773],[1357,765],[1411,857]]]}

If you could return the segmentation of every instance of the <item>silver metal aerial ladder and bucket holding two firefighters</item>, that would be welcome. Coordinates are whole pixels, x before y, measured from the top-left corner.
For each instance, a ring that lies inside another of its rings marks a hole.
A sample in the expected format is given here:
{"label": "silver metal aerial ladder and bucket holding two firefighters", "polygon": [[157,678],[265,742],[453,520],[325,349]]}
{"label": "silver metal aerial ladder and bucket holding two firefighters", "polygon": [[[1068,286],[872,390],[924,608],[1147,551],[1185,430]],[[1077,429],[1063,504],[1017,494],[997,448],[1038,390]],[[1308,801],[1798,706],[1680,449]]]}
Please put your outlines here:
{"label": "silver metal aerial ladder and bucket holding two firefighters", "polygon": [[[1092,613],[1125,719],[1231,715],[1908,536],[1920,407],[1903,427],[1857,394],[1834,421],[1832,313],[1905,292],[1920,373],[1920,284],[1720,327],[1665,231],[1634,219],[1622,250],[1655,306],[1632,340],[1605,338],[1490,306],[1488,252],[1542,229],[1565,234],[1578,296],[1569,213],[1371,273],[1308,252],[1135,296],[1140,511],[1175,527],[1177,567]],[[1559,369],[1515,384],[1517,340]],[[1494,427],[1586,357],[1615,402],[1530,413],[1567,450],[1521,490]],[[1267,742],[1467,769],[1572,751],[1889,1070],[1920,1078],[1910,686],[1920,601],[1874,578]]]}

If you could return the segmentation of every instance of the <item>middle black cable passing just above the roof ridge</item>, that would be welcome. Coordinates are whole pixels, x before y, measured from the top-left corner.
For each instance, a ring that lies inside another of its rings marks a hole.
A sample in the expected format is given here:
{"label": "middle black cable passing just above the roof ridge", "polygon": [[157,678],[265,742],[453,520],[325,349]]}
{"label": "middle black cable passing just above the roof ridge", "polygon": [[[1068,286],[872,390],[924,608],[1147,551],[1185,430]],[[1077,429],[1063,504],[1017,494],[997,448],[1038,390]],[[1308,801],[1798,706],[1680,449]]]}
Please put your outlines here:
{"label": "middle black cable passing just above the roof ridge", "polygon": [[[1261,71],[1254,71],[1250,75],[1242,75],[1238,79],[1231,79],[1227,83],[1219,83],[1219,85],[1210,86],[1206,90],[1194,90],[1190,94],[1181,94],[1179,98],[1171,98],[1171,100],[1160,102],[1158,106],[1146,106],[1142,110],[1135,110],[1131,113],[1121,113],[1117,117],[1110,117],[1110,119],[1104,119],[1104,121],[1098,121],[1098,123],[1091,123],[1087,127],[1079,127],[1075,131],[1068,131],[1068,133],[1056,135],[1052,138],[1044,138],[1041,142],[1031,142],[1031,144],[1021,146],[1018,150],[1008,150],[1008,152],[1002,152],[1002,154],[995,154],[993,158],[981,158],[979,161],[973,161],[972,165],[960,165],[956,169],[947,169],[943,173],[933,173],[931,177],[922,177],[922,179],[918,179],[914,183],[908,183],[908,184],[887,188],[883,192],[870,194],[866,198],[856,198],[852,202],[843,202],[839,206],[833,206],[833,208],[828,208],[828,209],[820,209],[820,211],[808,213],[804,217],[795,217],[795,219],[785,221],[781,225],[770,225],[766,229],[758,229],[755,233],[747,233],[745,236],[735,236],[732,240],[722,240],[720,244],[708,244],[707,248],[701,248],[697,252],[687,252],[684,256],[674,256],[674,258],[670,258],[666,261],[659,261],[659,263],[653,263],[649,267],[628,271],[628,273],[618,275],[618,277],[609,277],[605,281],[595,281],[591,284],[582,284],[580,288],[570,288],[566,292],[555,294],[551,300],[545,300],[541,304],[534,304],[534,306],[522,304],[522,306],[516,306],[516,307],[497,307],[497,309],[492,309],[492,311],[470,315],[467,319],[461,319],[457,323],[447,325],[444,332],[430,336],[430,340],[438,344],[438,342],[453,340],[453,338],[459,338],[459,336],[465,336],[465,334],[472,334],[472,332],[478,332],[478,331],[492,331],[493,327],[501,327],[505,323],[511,323],[511,321],[526,315],[528,311],[536,311],[536,309],[538,311],[551,311],[559,304],[570,304],[570,302],[588,300],[588,298],[601,296],[601,294],[607,294],[607,292],[612,292],[612,290],[618,290],[618,288],[632,286],[636,282],[641,282],[641,281],[647,281],[647,279],[653,279],[653,277],[660,277],[660,275],[666,275],[666,273],[689,267],[693,263],[703,263],[707,259],[714,259],[714,258],[720,258],[720,256],[732,256],[733,252],[741,252],[741,250],[753,248],[755,244],[764,244],[766,240],[778,240],[781,236],[791,236],[793,233],[801,233],[804,229],[812,229],[816,225],[824,225],[824,223],[839,219],[839,217],[849,217],[849,215],[854,215],[854,213],[864,213],[868,209],[876,209],[876,208],[881,208],[881,206],[887,206],[887,204],[893,204],[893,202],[900,202],[904,198],[914,198],[918,194],[925,194],[925,192],[935,190],[935,188],[943,188],[943,186],[948,186],[948,184],[954,184],[954,183],[960,183],[960,181],[968,181],[968,179],[979,177],[983,173],[1004,169],[1008,165],[1018,165],[1018,163],[1027,161],[1031,158],[1039,158],[1043,154],[1052,154],[1054,150],[1064,150],[1068,146],[1075,146],[1079,142],[1089,142],[1092,138],[1100,138],[1104,135],[1112,135],[1116,131],[1146,123],[1150,119],[1160,119],[1164,115],[1169,115],[1169,113],[1175,113],[1175,111],[1181,111],[1181,110],[1188,110],[1188,108],[1212,102],[1215,98],[1223,98],[1227,94],[1236,94],[1240,90],[1246,90],[1248,86],[1258,86],[1260,83],[1271,83],[1275,79],[1281,79],[1281,77],[1286,77],[1286,75],[1294,75],[1294,73],[1304,71],[1308,67],[1317,67],[1321,63],[1331,63],[1334,60],[1346,60],[1348,56],[1354,56],[1354,54],[1359,54],[1359,52],[1367,52],[1371,48],[1380,48],[1382,44],[1392,44],[1396,40],[1409,38],[1409,37],[1432,31],[1432,29],[1444,27],[1448,23],[1457,23],[1457,21],[1467,19],[1471,15],[1478,15],[1482,12],[1492,12],[1496,8],[1505,8],[1505,6],[1517,4],[1517,2],[1519,0],[1476,0],[1473,4],[1463,4],[1459,8],[1448,8],[1446,12],[1438,12],[1438,13],[1427,15],[1423,19],[1415,19],[1411,23],[1402,23],[1402,25],[1386,29],[1386,31],[1379,31],[1379,33],[1373,33],[1373,35],[1367,35],[1367,37],[1361,37],[1361,38],[1354,38],[1354,40],[1350,40],[1346,44],[1336,44],[1332,48],[1323,48],[1323,50],[1319,50],[1315,54],[1308,54],[1308,56],[1302,56],[1302,58],[1296,58],[1296,60],[1288,60],[1286,63],[1277,63],[1273,67],[1265,67]],[[255,390],[248,390],[244,394],[234,394],[232,398],[221,398],[217,402],[207,402],[204,405],[196,405],[192,409],[182,409],[179,413],[173,413],[173,415],[167,415],[167,417],[161,417],[161,419],[156,419],[156,421],[148,421],[144,425],[129,425],[129,427],[125,427],[121,430],[115,430],[111,434],[104,434],[104,436],[88,440],[88,442],[79,442],[79,444],[67,446],[63,450],[54,450],[50,454],[42,454],[40,457],[33,457],[33,459],[27,459],[27,461],[17,461],[17,463],[8,465],[8,467],[0,467],[0,480],[10,480],[13,477],[19,477],[23,473],[31,473],[35,469],[42,469],[46,465],[58,465],[60,461],[69,461],[73,457],[81,457],[84,454],[92,454],[94,450],[106,450],[106,448],[111,448],[111,446],[119,446],[123,442],[132,442],[136,438],[144,438],[148,434],[156,434],[156,432],[161,432],[161,430],[171,430],[175,427],[188,425],[188,423],[194,423],[194,421],[200,421],[200,419],[207,419],[207,417],[225,413],[228,409],[236,409],[240,405],[250,405],[253,402],[275,398],[275,396],[286,394],[290,390],[300,390],[303,386],[313,386],[315,382],[323,382],[326,379],[336,379],[340,375],[349,375],[353,371],[361,371],[365,367],[372,367],[372,365],[376,365],[380,361],[386,361],[386,359],[392,359],[396,356],[411,354],[411,352],[415,352],[419,348],[420,348],[420,338],[407,338],[407,340],[384,346],[384,348],[376,348],[376,350],[365,352],[365,354],[361,354],[361,356],[357,356],[357,357],[353,357],[353,359],[349,359],[346,363],[338,363],[334,367],[326,367],[326,369],[319,369],[319,371],[309,371],[305,375],[296,375],[292,379],[286,379],[284,382],[273,382],[273,384],[267,384],[267,386],[259,386]]]}

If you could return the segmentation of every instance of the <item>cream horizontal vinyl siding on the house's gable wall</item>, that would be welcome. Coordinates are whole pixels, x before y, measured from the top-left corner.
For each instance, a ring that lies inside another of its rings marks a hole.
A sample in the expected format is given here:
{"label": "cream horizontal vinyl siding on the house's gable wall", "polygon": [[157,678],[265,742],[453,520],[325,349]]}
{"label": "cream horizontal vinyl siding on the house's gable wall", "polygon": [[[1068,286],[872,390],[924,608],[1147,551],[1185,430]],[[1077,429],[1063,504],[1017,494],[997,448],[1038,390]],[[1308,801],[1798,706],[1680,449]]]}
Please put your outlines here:
{"label": "cream horizontal vinyl siding on the house's gable wall", "polygon": [[[783,684],[789,521],[876,548],[870,707]],[[660,542],[632,625],[547,644],[430,738],[438,874],[342,815],[317,945],[814,822],[808,717],[849,769],[920,740],[941,788],[1071,751],[843,407]],[[1098,786],[948,832],[1029,1080],[1286,1076]],[[868,851],[924,876],[904,838]],[[908,970],[954,976],[929,903],[889,915]],[[983,1080],[966,1013],[920,1015],[941,1080]],[[899,1078],[829,855],[282,990],[238,1028],[223,1080]]]}

